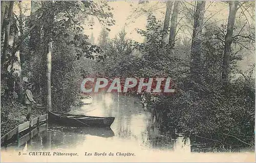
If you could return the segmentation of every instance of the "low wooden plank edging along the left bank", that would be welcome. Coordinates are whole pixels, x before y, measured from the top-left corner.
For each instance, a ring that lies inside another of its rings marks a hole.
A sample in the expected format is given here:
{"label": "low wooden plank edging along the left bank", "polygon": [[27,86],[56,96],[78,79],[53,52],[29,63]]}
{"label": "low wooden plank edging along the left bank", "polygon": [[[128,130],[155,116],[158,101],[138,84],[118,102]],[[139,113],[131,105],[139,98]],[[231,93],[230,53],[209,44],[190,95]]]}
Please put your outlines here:
{"label": "low wooden plank edging along the left bank", "polygon": [[[47,123],[48,122],[48,114],[36,117],[30,121],[24,122],[23,124],[19,124],[18,126],[16,126],[15,128],[13,128],[11,131],[9,131],[8,133],[6,133],[3,137],[1,137],[1,144],[6,144],[10,139],[12,138],[17,138],[17,140],[19,140],[19,133],[24,132],[25,130],[29,130],[27,134],[23,135],[23,137],[26,138],[26,135],[32,133],[35,133],[35,129],[38,130],[39,125]],[[35,129],[34,129],[35,128]],[[39,127],[40,129],[40,127]],[[37,133],[37,132],[36,132]],[[22,137],[22,138],[23,138]],[[31,137],[31,135],[30,135]],[[20,138],[20,139],[22,139]],[[25,139],[27,140],[27,139]]]}

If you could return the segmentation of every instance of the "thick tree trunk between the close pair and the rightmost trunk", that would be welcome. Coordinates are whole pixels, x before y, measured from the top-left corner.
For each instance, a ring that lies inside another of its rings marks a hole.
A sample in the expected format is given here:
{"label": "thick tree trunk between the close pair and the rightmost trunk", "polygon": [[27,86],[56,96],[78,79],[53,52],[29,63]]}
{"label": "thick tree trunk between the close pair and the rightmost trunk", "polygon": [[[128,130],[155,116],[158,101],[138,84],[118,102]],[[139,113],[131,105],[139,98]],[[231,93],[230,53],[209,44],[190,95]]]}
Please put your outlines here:
{"label": "thick tree trunk between the close pair and the rightmost trunk", "polygon": [[198,1],[195,13],[194,30],[190,54],[190,76],[191,79],[193,79],[195,82],[199,82],[201,79],[200,63],[204,9],[205,1]]}

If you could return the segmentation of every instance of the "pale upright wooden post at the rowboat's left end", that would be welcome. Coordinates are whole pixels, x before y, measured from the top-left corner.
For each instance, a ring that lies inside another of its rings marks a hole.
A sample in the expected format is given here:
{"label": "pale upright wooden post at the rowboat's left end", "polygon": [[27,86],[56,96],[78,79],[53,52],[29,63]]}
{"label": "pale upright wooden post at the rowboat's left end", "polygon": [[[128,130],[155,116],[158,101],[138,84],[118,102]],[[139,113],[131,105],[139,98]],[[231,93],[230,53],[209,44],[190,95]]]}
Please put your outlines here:
{"label": "pale upright wooden post at the rowboat's left end", "polygon": [[47,111],[52,110],[52,88],[51,88],[51,74],[52,74],[52,40],[48,43],[47,48]]}

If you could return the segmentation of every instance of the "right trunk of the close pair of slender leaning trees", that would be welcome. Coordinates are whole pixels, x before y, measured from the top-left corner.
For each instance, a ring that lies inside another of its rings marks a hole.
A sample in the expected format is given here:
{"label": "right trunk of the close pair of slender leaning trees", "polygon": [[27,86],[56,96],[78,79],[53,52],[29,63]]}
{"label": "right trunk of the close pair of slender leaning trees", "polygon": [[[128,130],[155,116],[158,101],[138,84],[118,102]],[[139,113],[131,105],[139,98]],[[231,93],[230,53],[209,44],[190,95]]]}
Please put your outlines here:
{"label": "right trunk of the close pair of slender leaning trees", "polygon": [[172,53],[175,45],[178,9],[179,9],[179,1],[175,1],[172,19],[170,20],[170,36],[169,36],[169,45],[170,47],[172,47]]}

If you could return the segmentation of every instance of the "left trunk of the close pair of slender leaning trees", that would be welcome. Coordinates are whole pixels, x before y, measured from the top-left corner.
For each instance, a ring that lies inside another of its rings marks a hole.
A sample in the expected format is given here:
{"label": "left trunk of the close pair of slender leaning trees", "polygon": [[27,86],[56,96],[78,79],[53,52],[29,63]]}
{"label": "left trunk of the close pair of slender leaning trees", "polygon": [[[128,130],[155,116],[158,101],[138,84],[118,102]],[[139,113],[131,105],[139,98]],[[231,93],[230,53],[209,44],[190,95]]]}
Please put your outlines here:
{"label": "left trunk of the close pair of slender leaning trees", "polygon": [[167,1],[164,24],[163,24],[163,37],[161,40],[163,44],[167,44],[167,40],[168,40],[168,29],[170,24],[170,15],[172,14],[172,7],[173,7],[173,2]]}

